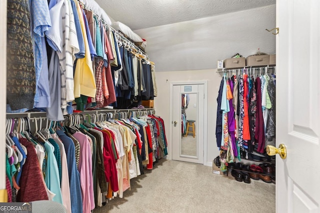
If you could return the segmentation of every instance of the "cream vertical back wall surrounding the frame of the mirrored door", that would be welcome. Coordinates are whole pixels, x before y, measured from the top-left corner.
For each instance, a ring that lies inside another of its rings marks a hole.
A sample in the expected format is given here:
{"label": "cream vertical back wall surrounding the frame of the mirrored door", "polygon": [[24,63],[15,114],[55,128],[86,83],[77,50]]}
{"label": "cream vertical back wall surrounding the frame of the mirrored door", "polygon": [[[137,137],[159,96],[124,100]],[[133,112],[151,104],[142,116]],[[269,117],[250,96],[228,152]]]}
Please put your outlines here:
{"label": "cream vertical back wall surrounding the frame of the mirrored door", "polygon": [[[204,164],[212,165],[212,160],[219,155],[215,141],[215,121],[216,121],[216,97],[221,81],[220,73],[216,73],[213,69],[207,70],[189,70],[189,71],[169,71],[157,72],[156,82],[158,85],[158,96],[154,98],[155,112],[164,120],[166,128],[167,140],[171,140],[169,135],[171,130],[169,124],[170,118],[170,82],[174,81],[201,81],[208,80],[208,125],[207,125],[207,147],[204,150],[207,152],[207,159],[204,159]],[[199,109],[200,110],[200,109]],[[170,142],[169,142],[170,144]],[[169,147],[168,149],[171,149]],[[169,152],[170,153],[170,152]]]}

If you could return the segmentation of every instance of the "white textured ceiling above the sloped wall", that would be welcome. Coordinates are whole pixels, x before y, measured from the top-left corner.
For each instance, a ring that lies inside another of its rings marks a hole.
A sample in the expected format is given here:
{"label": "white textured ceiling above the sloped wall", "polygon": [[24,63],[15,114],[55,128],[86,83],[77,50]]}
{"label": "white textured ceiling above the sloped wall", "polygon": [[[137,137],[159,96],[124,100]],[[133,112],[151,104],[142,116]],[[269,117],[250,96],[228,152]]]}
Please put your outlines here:
{"label": "white textured ceiling above the sloped wall", "polygon": [[[95,0],[132,30],[275,4],[275,0]],[[236,18],[236,17],[234,17]]]}

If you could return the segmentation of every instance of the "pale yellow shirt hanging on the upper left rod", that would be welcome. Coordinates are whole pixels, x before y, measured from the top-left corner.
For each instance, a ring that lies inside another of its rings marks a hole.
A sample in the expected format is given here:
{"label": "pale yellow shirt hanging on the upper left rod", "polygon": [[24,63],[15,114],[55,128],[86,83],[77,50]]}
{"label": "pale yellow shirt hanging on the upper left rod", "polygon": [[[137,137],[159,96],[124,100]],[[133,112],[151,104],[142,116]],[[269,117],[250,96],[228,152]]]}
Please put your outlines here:
{"label": "pale yellow shirt hanging on the upper left rod", "polygon": [[81,25],[81,31],[84,39],[85,55],[84,58],[78,58],[76,60],[74,71],[74,97],[78,98],[80,95],[88,97],[95,97],[96,85],[92,68],[91,55],[89,50],[89,44],[86,36],[84,20],[82,16],[82,10],[78,1],[74,1]]}

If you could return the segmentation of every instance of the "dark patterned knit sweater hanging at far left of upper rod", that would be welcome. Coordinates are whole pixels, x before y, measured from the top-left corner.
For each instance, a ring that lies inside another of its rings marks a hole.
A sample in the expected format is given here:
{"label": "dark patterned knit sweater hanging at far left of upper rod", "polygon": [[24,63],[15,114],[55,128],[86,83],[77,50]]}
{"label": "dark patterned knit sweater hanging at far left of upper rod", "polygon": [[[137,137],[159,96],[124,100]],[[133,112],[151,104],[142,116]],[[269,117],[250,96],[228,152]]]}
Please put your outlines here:
{"label": "dark patterned knit sweater hanging at far left of upper rod", "polygon": [[28,0],[7,1],[6,102],[11,110],[32,109],[34,104],[36,78],[29,14]]}

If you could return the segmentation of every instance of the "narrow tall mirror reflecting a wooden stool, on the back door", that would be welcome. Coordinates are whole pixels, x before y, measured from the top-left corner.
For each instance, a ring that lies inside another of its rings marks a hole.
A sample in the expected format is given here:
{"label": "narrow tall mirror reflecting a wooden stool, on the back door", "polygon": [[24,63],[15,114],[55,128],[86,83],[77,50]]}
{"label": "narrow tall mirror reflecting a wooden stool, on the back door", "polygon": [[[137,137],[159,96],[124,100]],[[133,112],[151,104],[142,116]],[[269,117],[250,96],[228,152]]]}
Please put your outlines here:
{"label": "narrow tall mirror reflecting a wooden stool, on the back door", "polygon": [[181,155],[197,156],[197,94],[181,94]]}

